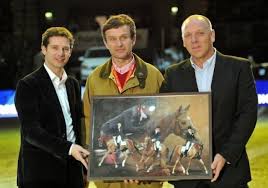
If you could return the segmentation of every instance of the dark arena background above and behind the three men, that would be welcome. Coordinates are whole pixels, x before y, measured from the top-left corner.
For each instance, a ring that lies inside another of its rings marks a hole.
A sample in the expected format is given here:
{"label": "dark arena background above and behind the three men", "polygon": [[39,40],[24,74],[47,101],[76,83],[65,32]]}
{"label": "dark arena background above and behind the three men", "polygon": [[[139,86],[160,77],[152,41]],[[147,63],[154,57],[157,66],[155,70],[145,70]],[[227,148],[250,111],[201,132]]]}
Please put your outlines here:
{"label": "dark arena background above and behind the three men", "polygon": [[[203,14],[212,21],[219,51],[252,56],[257,64],[268,59],[264,0],[1,0],[0,5],[0,89],[15,88],[17,80],[32,71],[33,56],[40,51],[41,34],[48,27],[65,26],[74,34],[99,30],[97,15],[129,14],[137,28],[147,28],[149,52],[142,56],[152,64],[153,52],[171,45],[187,56],[180,25],[191,14]],[[176,15],[170,13],[172,6],[179,8]],[[45,19],[47,11],[53,12],[52,20]],[[73,52],[67,71],[80,66],[81,54]]]}

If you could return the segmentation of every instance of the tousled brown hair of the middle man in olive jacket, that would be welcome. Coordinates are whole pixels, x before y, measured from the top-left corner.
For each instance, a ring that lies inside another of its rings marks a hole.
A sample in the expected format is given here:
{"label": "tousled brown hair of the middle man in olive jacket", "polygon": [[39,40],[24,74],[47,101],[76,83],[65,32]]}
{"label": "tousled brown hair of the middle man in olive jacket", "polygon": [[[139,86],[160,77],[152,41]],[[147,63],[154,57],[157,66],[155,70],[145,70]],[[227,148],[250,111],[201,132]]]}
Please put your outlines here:
{"label": "tousled brown hair of the middle man in olive jacket", "polygon": [[134,20],[126,15],[119,14],[111,16],[102,27],[102,37],[106,41],[105,32],[109,29],[119,28],[121,26],[128,25],[130,29],[130,37],[133,39],[136,36],[136,25]]}

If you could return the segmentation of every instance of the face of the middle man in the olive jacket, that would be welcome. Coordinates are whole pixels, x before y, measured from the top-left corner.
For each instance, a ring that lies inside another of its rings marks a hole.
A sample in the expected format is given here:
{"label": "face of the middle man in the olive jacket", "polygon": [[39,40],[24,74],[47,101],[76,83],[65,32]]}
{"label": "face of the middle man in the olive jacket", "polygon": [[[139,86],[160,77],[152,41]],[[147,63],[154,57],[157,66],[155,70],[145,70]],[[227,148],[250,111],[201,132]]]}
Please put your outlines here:
{"label": "face of the middle man in the olive jacket", "polygon": [[130,28],[127,25],[109,29],[105,32],[105,45],[115,59],[128,60],[132,55],[132,48],[136,38],[130,36]]}

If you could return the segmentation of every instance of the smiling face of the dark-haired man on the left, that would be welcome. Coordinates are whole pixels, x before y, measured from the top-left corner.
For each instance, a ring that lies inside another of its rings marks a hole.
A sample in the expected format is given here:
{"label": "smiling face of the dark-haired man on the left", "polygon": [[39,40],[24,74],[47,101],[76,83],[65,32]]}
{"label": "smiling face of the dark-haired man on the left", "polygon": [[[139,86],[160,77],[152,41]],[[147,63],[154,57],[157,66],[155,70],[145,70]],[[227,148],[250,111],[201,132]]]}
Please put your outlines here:
{"label": "smiling face of the dark-haired man on the left", "polygon": [[42,46],[42,53],[50,69],[61,69],[71,56],[70,41],[62,36],[50,37],[47,47]]}

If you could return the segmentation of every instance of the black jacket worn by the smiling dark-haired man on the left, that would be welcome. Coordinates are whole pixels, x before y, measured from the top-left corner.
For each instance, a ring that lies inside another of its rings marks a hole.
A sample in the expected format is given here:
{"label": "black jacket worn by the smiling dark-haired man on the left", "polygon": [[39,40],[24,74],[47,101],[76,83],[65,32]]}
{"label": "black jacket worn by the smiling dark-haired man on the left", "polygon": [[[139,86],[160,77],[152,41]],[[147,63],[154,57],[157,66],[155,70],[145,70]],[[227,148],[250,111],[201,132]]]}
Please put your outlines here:
{"label": "black jacket worn by the smiling dark-haired man on the left", "polygon": [[[66,90],[76,143],[80,144],[81,95],[78,81],[68,77]],[[18,185],[65,183],[72,143],[67,141],[61,105],[44,66],[18,82],[15,105],[21,123]],[[78,163],[73,170],[80,176],[81,169]]]}

